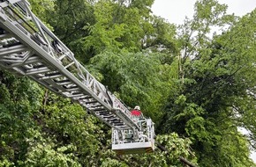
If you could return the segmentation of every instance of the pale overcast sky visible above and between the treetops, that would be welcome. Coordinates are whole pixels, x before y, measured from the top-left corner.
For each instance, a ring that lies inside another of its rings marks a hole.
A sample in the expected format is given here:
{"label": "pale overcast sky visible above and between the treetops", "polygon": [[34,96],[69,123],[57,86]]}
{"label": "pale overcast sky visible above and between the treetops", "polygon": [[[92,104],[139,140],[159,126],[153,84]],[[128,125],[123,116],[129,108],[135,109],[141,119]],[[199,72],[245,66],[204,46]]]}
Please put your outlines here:
{"label": "pale overcast sky visible above and between the treetops", "polygon": [[[184,18],[192,18],[193,4],[196,0],[154,0],[152,11],[154,15],[166,18],[169,23],[180,25]],[[236,16],[244,16],[256,8],[256,0],[219,0],[220,4],[228,4],[227,13],[235,13]],[[256,152],[252,153],[252,159],[256,163]]]}

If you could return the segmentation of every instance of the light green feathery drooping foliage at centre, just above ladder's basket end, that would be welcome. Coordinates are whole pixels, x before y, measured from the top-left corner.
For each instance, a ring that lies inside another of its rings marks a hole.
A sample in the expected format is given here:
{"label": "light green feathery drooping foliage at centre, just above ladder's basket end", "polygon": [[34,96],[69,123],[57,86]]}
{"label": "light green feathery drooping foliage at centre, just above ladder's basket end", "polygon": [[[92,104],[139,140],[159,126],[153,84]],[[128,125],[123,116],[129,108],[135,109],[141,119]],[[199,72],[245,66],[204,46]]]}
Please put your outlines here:
{"label": "light green feathery drooping foliage at centre, just above ladder's basket end", "polygon": [[[143,113],[157,120],[163,99],[168,96],[171,82],[168,72],[171,66],[162,65],[163,54],[105,52],[91,60],[94,76],[101,76],[102,84],[117,94],[126,105],[141,105]],[[96,71],[95,71],[96,70]],[[167,72],[167,73],[165,73]],[[116,93],[117,92],[117,93]]]}

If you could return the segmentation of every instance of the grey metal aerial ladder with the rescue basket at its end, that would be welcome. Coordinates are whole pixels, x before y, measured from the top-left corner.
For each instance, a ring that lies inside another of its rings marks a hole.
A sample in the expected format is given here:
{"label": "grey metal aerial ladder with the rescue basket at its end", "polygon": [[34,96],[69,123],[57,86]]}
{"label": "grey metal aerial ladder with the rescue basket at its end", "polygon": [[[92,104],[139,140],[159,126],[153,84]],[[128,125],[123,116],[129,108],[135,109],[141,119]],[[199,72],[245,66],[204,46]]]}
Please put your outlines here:
{"label": "grey metal aerial ladder with the rescue basket at its end", "polygon": [[112,149],[118,154],[153,152],[154,122],[134,120],[29,6],[26,0],[0,0],[0,68],[84,106],[112,128]]}

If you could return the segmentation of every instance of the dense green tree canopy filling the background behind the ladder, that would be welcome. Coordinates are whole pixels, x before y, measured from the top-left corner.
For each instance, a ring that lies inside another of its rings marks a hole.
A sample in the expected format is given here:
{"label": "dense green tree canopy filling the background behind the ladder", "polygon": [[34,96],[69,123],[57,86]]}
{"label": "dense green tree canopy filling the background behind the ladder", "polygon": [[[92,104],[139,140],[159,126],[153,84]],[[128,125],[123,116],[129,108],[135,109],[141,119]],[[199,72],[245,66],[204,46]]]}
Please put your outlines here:
{"label": "dense green tree canopy filling the background behind the ladder", "polygon": [[168,151],[117,156],[84,108],[1,70],[0,166],[255,166],[256,10],[239,18],[199,0],[176,26],[154,0],[29,2],[102,84],[141,106]]}

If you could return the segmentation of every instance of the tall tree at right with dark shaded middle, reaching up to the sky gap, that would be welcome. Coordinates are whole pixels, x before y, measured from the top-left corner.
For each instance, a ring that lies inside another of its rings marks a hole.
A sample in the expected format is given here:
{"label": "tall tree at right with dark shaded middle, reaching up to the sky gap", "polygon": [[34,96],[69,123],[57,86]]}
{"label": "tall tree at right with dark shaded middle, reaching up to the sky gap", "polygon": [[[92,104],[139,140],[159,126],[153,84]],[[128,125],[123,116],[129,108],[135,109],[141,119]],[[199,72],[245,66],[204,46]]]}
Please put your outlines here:
{"label": "tall tree at right with dark shaded middle, reaching up to the sky gap", "polygon": [[[226,15],[226,7],[213,0],[198,1],[194,18],[181,29],[182,86],[169,96],[162,133],[175,131],[189,137],[202,166],[251,166],[248,141],[238,132],[237,120],[247,91],[255,85],[255,26],[250,17],[240,20]],[[211,26],[226,25],[230,25],[228,31],[209,38]]]}

